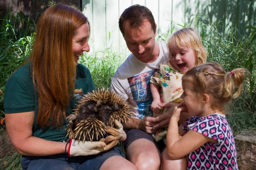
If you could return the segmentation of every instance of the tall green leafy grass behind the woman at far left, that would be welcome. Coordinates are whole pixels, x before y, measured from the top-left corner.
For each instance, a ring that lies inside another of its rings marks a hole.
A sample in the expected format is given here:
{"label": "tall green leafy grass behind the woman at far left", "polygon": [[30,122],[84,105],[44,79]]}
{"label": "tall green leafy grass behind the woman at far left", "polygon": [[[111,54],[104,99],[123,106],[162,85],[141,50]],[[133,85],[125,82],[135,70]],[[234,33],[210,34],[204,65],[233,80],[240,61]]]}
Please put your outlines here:
{"label": "tall green leafy grass behind the woman at far left", "polygon": [[3,94],[7,79],[29,56],[35,23],[23,12],[8,11],[0,24],[0,118],[3,117]]}

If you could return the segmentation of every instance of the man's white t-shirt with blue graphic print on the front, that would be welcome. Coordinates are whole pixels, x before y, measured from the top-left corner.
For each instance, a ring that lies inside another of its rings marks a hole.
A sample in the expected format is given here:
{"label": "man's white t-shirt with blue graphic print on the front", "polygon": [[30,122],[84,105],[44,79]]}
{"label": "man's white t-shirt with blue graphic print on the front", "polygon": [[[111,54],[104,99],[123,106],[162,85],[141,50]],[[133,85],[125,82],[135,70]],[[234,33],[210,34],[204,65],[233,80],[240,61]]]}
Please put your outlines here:
{"label": "man's white t-shirt with blue graphic print on the front", "polygon": [[110,90],[129,100],[134,117],[139,119],[153,116],[153,111],[150,108],[153,101],[150,77],[157,71],[159,64],[170,60],[166,44],[161,42],[158,44],[159,55],[154,62],[145,63],[131,53],[126,61],[118,67],[110,84]]}

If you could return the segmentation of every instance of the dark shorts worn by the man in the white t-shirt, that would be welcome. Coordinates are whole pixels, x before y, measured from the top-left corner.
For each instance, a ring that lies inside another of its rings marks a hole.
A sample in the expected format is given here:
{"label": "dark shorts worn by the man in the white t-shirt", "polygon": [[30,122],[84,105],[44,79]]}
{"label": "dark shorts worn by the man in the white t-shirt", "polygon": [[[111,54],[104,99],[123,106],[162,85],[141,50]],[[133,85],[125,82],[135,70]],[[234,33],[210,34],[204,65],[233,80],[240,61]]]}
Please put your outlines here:
{"label": "dark shorts worn by the man in the white t-shirt", "polygon": [[155,146],[159,149],[160,152],[162,152],[163,149],[166,147],[163,140],[156,142],[151,134],[146,133],[140,129],[129,129],[129,130],[125,130],[125,132],[127,135],[127,138],[124,141],[124,149],[125,149],[126,153],[127,153],[127,148],[129,147],[129,145],[133,141],[135,141],[137,139],[141,139],[141,138],[148,139],[148,140],[152,141],[155,144]]}

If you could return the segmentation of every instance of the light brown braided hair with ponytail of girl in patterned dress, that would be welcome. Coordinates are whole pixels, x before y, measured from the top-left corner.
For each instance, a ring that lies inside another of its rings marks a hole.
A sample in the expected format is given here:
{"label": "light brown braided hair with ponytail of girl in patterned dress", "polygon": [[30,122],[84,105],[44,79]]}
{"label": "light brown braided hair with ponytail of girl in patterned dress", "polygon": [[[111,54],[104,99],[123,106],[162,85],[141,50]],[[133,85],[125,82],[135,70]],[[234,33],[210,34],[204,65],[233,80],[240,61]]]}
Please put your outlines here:
{"label": "light brown braided hair with ponytail of girl in patterned dress", "polygon": [[223,111],[225,103],[239,96],[246,74],[249,74],[249,71],[243,68],[226,73],[219,63],[210,62],[186,72],[182,81],[190,83],[191,89],[198,97],[204,93],[209,94],[211,107]]}

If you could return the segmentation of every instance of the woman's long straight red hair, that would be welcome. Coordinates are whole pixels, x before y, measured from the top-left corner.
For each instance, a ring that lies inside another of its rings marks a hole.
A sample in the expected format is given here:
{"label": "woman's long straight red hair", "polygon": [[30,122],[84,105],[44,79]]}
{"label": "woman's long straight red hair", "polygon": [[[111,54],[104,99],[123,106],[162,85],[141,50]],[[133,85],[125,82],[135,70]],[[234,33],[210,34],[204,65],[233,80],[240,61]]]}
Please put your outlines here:
{"label": "woman's long straight red hair", "polygon": [[61,3],[49,7],[37,23],[30,62],[41,127],[63,125],[76,76],[72,37],[84,23],[88,19],[80,11]]}

